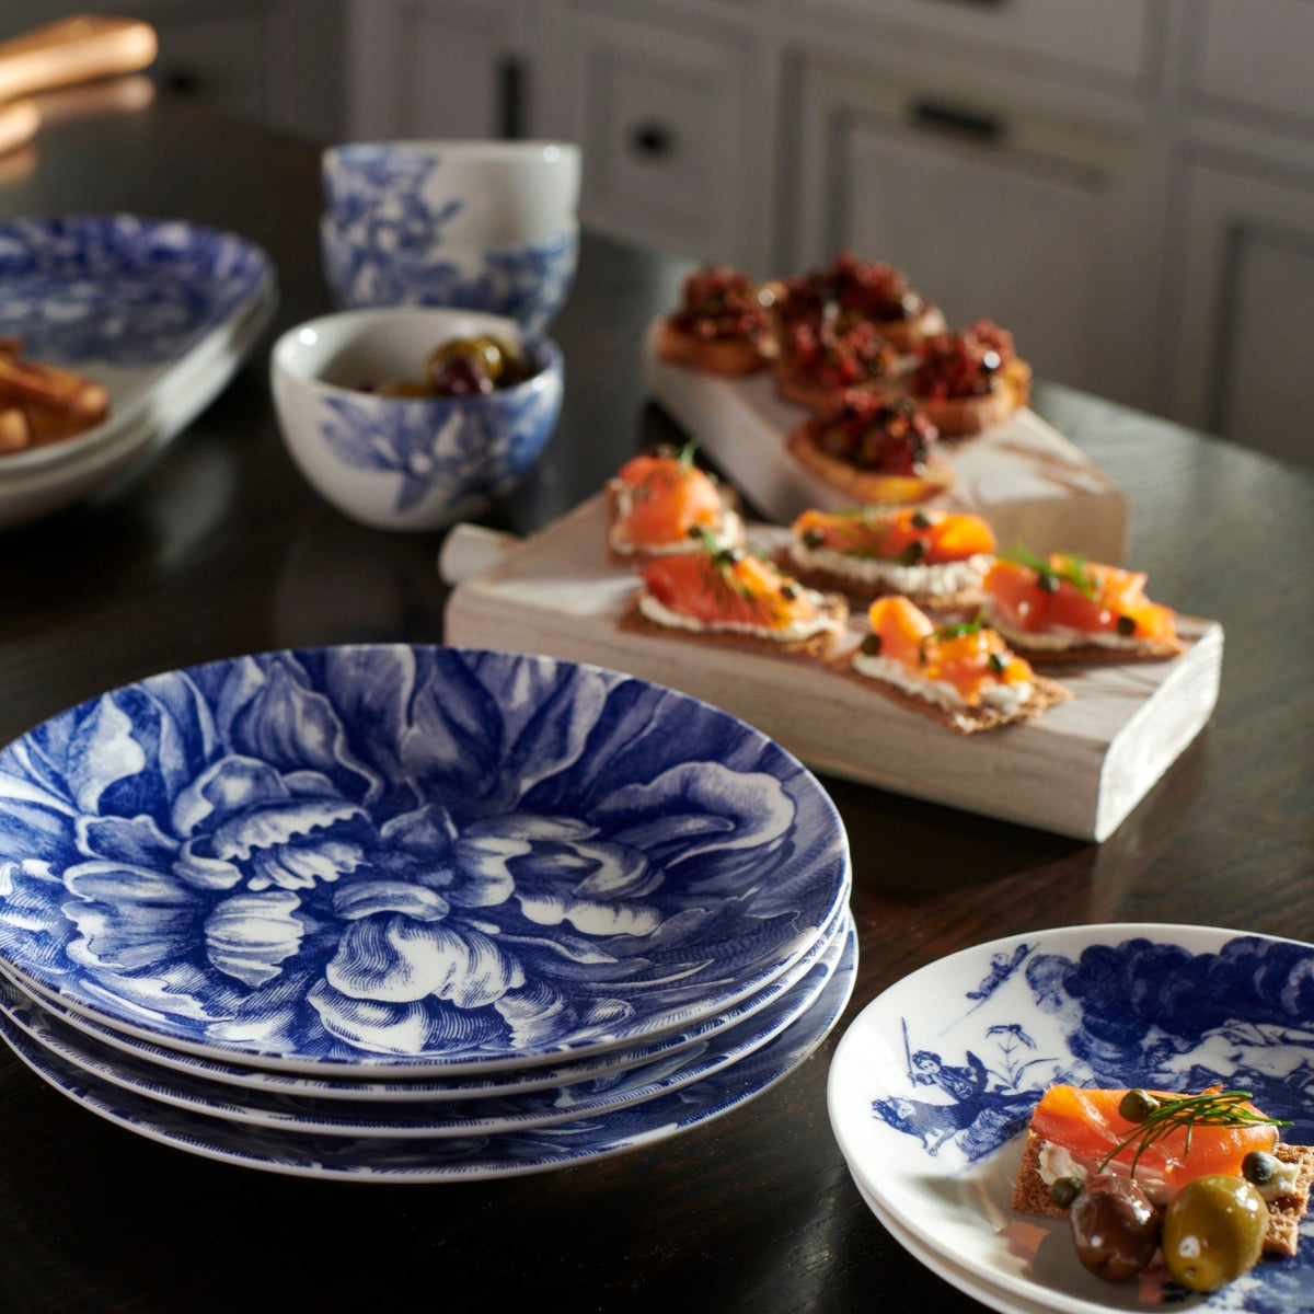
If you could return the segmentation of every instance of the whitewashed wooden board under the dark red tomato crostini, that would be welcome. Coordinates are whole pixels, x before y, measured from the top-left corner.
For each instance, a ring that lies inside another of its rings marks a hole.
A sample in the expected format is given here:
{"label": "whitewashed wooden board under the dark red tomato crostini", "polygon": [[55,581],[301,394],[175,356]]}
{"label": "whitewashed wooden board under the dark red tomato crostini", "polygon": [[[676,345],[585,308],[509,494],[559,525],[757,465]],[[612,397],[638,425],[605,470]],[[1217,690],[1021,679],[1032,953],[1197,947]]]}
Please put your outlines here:
{"label": "whitewashed wooden board under the dark red tomato crostini", "polygon": [[[853,495],[800,465],[784,436],[808,411],[782,401],[769,371],[746,378],[700,373],[657,359],[656,325],[644,348],[648,392],[769,519],[788,524]],[[986,519],[1000,548],[1079,552],[1116,564],[1127,544],[1127,503],[1117,484],[1034,411],[1021,410],[974,438],[945,443],[954,486],[936,506]]]}

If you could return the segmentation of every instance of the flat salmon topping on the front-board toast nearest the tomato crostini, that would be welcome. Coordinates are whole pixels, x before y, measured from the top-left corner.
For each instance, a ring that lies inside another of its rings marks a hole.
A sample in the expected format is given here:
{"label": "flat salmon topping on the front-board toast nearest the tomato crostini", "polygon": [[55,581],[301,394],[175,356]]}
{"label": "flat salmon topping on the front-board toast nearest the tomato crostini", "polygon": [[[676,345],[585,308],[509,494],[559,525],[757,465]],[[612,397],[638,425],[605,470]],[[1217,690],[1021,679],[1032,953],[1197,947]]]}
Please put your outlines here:
{"label": "flat salmon topping on the front-board toast nearest the tomato crostini", "polygon": [[942,565],[995,551],[995,535],[980,516],[946,511],[804,511],[794,535],[812,548],[905,565]]}

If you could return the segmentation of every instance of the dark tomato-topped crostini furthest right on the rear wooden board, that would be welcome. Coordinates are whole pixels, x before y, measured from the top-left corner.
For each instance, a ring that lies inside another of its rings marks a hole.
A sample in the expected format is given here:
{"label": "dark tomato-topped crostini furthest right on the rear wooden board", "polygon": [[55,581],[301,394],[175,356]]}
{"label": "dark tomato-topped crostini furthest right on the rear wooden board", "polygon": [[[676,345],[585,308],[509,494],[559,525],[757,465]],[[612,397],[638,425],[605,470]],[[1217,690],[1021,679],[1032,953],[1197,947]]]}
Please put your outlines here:
{"label": "dark tomato-topped crostini furthest right on the rear wooden board", "polygon": [[1030,401],[1031,367],[989,319],[934,334],[918,343],[917,357],[908,392],[943,438],[979,434]]}

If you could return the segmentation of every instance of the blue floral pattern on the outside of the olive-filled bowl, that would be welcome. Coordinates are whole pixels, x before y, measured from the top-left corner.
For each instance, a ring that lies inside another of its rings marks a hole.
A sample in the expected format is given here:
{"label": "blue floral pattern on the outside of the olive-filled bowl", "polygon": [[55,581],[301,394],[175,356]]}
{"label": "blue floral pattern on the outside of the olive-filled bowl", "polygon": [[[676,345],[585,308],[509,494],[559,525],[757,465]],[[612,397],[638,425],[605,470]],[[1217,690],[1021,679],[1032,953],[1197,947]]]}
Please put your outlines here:
{"label": "blue floral pattern on the outside of the olive-filled bowl", "polygon": [[397,511],[410,511],[439,490],[449,503],[503,493],[537,460],[561,409],[556,348],[531,338],[524,350],[543,372],[486,405],[326,396],[319,403],[323,439],[346,465],[399,476]]}

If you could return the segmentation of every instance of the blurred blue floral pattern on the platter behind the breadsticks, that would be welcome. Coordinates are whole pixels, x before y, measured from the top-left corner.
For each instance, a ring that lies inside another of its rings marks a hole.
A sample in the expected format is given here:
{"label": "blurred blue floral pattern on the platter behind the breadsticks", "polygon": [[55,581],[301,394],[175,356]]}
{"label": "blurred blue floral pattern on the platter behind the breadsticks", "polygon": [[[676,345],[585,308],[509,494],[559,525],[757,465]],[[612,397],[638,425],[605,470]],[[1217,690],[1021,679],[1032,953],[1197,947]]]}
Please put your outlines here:
{"label": "blurred blue floral pattern on the platter behind the breadsticks", "polygon": [[256,246],[180,219],[74,214],[0,225],[0,334],[64,364],[177,360],[273,284]]}

